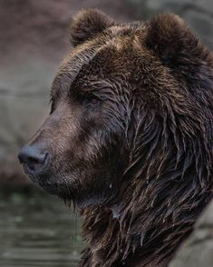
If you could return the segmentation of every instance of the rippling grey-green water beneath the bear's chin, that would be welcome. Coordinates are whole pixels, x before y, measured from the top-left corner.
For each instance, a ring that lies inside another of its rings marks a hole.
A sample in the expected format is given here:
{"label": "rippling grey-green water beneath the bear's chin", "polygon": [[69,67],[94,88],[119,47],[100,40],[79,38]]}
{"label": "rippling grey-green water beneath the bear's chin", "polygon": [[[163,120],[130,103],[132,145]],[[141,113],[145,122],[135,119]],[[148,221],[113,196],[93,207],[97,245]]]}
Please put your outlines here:
{"label": "rippling grey-green water beneath the bear's chin", "polygon": [[81,222],[57,197],[0,192],[0,266],[77,266]]}

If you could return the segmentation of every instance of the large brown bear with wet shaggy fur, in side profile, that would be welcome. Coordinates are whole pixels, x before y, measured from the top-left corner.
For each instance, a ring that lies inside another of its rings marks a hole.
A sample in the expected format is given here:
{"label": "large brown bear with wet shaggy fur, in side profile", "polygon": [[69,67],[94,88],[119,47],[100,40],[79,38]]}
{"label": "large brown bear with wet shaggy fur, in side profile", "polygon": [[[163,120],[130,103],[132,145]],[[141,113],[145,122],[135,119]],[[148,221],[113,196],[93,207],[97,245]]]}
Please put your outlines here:
{"label": "large brown bear with wet shaggy fur, in side profile", "polygon": [[80,209],[80,266],[167,266],[212,198],[213,56],[177,15],[85,10],[71,42],[20,162]]}

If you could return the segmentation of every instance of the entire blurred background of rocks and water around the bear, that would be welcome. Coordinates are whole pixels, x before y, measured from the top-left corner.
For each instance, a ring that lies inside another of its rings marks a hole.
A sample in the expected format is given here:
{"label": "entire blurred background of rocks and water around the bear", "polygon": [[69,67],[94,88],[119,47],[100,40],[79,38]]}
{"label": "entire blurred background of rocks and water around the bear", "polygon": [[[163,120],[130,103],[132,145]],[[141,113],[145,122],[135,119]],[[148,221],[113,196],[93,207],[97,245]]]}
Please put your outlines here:
{"label": "entire blurred background of rocks and water around the bear", "polygon": [[[213,49],[212,0],[0,0],[2,267],[75,266],[80,257],[83,242],[77,215],[56,197],[30,185],[16,154],[49,113],[53,77],[70,50],[71,18],[86,7],[99,8],[121,22],[173,12],[183,17],[200,40]],[[205,213],[210,230],[202,232],[202,238],[199,233],[192,236],[197,246],[189,242],[188,254],[187,249],[179,252],[179,259],[172,266],[204,266],[201,260],[206,261],[205,267],[208,263],[213,266],[211,210],[213,208],[208,207]],[[202,222],[198,223],[198,229],[206,225],[206,221]],[[207,244],[207,237],[209,244],[204,250],[202,246]],[[197,251],[199,257],[195,260]],[[200,252],[203,252],[201,258]]]}

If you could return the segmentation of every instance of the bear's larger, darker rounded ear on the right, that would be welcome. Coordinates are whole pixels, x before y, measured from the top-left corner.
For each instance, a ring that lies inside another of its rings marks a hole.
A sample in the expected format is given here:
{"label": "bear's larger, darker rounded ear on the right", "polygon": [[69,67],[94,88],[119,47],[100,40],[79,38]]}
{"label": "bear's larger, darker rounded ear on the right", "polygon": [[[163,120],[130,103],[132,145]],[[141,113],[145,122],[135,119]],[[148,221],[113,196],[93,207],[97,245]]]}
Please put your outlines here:
{"label": "bear's larger, darker rounded ear on the right", "polygon": [[146,46],[160,57],[164,64],[177,66],[184,60],[202,54],[203,46],[178,15],[158,15],[148,23]]}

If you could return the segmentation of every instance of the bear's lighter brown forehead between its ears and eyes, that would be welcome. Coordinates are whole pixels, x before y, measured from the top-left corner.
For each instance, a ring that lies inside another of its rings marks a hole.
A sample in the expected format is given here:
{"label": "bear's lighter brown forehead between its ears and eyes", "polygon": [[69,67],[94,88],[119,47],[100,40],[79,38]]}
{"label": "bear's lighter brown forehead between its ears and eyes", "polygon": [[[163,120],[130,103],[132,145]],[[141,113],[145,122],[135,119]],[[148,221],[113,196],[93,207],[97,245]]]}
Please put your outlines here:
{"label": "bear's lighter brown forehead between its ears and eyes", "polygon": [[107,33],[73,48],[63,60],[52,90],[60,87],[67,92],[72,84],[90,87],[95,80],[108,78],[137,81],[144,79],[145,72],[153,77],[162,66],[143,45],[145,37],[144,25],[111,26]]}

